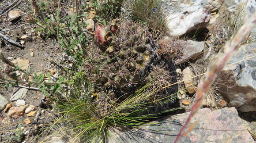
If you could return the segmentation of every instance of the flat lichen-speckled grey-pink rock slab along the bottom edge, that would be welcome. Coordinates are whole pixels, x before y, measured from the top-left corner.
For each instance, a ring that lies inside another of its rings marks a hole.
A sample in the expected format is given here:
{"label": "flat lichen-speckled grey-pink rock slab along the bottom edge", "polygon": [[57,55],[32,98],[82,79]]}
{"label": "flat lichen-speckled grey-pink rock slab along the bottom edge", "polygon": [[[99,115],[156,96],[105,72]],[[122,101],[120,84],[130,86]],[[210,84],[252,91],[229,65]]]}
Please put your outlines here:
{"label": "flat lichen-speckled grey-pink rock slab along the bottom edge", "polygon": [[[173,143],[188,113],[162,118],[140,128],[128,131],[110,131],[109,143]],[[238,116],[234,107],[211,111],[203,108],[192,118],[191,123],[198,121],[195,129],[182,137],[178,143],[255,143],[247,128],[252,123]],[[155,124],[154,124],[155,123]],[[237,131],[239,130],[239,131]]]}

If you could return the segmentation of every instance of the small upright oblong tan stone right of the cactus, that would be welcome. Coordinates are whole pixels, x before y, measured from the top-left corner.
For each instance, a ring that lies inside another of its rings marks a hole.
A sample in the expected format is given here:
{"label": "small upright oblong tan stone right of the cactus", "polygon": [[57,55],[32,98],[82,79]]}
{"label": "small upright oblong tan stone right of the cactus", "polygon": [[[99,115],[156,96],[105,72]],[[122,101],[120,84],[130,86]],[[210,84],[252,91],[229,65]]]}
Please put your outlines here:
{"label": "small upright oblong tan stone right of the cactus", "polygon": [[196,89],[194,86],[194,80],[192,79],[193,73],[191,72],[190,68],[187,67],[183,70],[183,82],[185,84],[186,90],[189,94],[196,93]]}

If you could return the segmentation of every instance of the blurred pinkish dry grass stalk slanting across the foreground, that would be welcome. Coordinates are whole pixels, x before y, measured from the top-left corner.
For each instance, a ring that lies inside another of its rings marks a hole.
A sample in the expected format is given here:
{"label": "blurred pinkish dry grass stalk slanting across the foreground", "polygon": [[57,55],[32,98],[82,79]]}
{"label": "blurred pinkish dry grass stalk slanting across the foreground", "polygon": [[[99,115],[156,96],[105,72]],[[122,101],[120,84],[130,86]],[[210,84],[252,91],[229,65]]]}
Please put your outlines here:
{"label": "blurred pinkish dry grass stalk slanting across the foreground", "polygon": [[[234,36],[234,38],[226,43],[224,46],[225,53],[223,57],[220,57],[215,64],[211,67],[210,71],[205,76],[204,80],[201,80],[196,92],[196,98],[195,103],[193,104],[191,108],[191,112],[187,118],[187,121],[185,122],[184,126],[181,128],[180,132],[178,133],[174,143],[177,143],[181,137],[184,136],[184,134],[187,134],[189,131],[191,131],[193,128],[188,128],[184,131],[185,127],[190,122],[191,118],[196,114],[196,112],[200,109],[203,98],[205,94],[208,92],[209,88],[211,87],[211,84],[215,81],[215,78],[217,77],[217,74],[222,70],[226,62],[228,61],[230,55],[238,49],[240,43],[243,41],[243,39],[248,35],[249,32],[252,31],[252,29],[256,25],[256,13],[254,13],[251,18],[249,18],[247,21],[245,21],[245,24],[241,26],[241,29],[237,32],[237,34]],[[184,132],[183,132],[184,131]]]}

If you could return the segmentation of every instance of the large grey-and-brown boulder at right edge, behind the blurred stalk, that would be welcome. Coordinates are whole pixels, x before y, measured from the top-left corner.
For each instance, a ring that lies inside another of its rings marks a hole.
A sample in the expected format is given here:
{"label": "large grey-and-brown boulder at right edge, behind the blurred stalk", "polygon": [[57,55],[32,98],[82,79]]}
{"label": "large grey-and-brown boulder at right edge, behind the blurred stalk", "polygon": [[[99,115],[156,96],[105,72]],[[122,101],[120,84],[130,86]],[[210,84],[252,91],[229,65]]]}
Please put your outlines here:
{"label": "large grey-and-brown boulder at right edge, behind the blurred stalk", "polygon": [[216,79],[227,104],[242,112],[256,111],[255,47],[256,43],[240,46]]}

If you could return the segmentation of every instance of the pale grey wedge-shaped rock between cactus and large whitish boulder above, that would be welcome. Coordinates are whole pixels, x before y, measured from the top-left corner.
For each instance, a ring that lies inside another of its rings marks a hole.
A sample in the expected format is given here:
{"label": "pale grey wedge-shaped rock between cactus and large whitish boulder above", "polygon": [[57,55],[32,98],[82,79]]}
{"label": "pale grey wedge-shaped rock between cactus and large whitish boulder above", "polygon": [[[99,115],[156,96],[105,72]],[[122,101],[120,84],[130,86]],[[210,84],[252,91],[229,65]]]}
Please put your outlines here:
{"label": "pale grey wedge-shaped rock between cactus and large whitish boulder above", "polygon": [[203,53],[204,42],[196,42],[192,40],[179,40],[177,41],[177,43],[179,43],[179,45],[182,46],[183,55],[177,60],[175,60],[176,65],[182,64],[188,60],[195,60],[199,57],[200,54]]}

